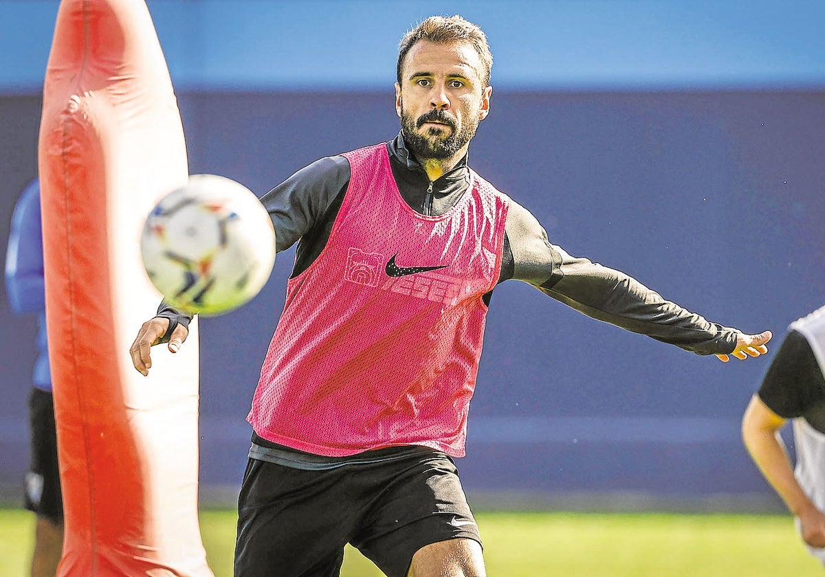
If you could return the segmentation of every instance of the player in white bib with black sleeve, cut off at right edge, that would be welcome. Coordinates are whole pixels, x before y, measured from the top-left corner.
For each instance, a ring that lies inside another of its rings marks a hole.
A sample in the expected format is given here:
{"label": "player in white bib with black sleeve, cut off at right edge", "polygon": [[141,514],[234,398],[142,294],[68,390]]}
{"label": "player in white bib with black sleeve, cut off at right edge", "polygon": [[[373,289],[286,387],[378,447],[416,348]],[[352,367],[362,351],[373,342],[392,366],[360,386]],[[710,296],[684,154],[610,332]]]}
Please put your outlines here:
{"label": "player in white bib with black sleeve, cut off at right edge", "polygon": [[[753,462],[825,564],[825,307],[792,323],[742,418]],[[796,471],[779,435],[793,420]]]}

